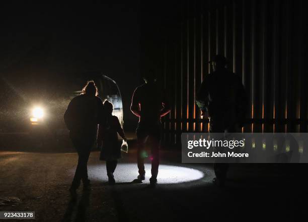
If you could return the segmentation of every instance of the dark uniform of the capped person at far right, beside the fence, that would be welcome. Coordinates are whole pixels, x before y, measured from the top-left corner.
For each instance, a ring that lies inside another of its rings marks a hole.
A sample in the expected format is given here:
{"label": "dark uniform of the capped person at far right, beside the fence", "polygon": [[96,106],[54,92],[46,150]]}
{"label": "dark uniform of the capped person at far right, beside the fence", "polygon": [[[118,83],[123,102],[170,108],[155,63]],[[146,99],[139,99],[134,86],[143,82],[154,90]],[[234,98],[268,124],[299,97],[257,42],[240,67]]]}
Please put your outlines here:
{"label": "dark uniform of the capped person at far right, beside the fence", "polygon": [[[245,120],[246,95],[241,77],[226,69],[206,75],[196,95],[201,110],[210,117],[210,132],[235,133]],[[217,179],[224,180],[228,164],[214,164]]]}

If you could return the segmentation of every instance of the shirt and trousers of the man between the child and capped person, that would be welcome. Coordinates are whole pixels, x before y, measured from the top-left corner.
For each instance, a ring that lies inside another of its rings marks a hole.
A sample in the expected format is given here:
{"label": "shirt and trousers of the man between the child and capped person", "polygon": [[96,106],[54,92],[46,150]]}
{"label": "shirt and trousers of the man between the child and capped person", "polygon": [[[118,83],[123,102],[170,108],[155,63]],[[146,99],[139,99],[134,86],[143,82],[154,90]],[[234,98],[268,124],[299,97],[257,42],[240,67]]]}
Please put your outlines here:
{"label": "shirt and trousers of the man between the child and capped person", "polygon": [[140,117],[136,129],[138,153],[137,164],[139,175],[144,175],[143,153],[145,143],[151,149],[151,175],[157,178],[159,169],[159,149],[161,143],[161,115],[168,109],[166,94],[156,82],[146,83],[134,91],[131,110],[140,110]]}

